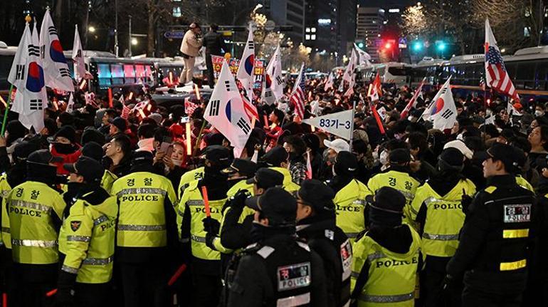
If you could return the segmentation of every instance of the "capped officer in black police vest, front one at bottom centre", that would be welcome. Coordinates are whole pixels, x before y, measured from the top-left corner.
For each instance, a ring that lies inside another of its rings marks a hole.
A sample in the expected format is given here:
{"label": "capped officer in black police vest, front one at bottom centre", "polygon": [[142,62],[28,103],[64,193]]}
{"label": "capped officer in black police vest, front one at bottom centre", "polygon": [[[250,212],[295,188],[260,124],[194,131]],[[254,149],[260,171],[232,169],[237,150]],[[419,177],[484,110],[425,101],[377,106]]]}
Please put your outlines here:
{"label": "capped officer in black police vest, front one at bottom centre", "polygon": [[228,306],[327,306],[323,261],[295,240],[297,202],[280,187],[246,200],[255,209],[255,244],[228,281]]}

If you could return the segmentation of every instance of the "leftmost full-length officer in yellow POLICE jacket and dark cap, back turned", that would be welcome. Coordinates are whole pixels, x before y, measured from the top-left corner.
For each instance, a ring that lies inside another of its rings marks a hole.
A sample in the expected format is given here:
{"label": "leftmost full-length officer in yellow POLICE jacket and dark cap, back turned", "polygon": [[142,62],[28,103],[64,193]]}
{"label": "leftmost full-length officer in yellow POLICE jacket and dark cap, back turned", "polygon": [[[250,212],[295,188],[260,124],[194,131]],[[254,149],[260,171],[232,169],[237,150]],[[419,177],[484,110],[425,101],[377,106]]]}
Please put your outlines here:
{"label": "leftmost full-length officer in yellow POLICE jacket and dark cap, back turned", "polygon": [[7,199],[14,260],[14,306],[45,306],[45,293],[55,288],[58,271],[58,231],[65,202],[56,182],[61,159],[48,150],[28,156],[26,182]]}

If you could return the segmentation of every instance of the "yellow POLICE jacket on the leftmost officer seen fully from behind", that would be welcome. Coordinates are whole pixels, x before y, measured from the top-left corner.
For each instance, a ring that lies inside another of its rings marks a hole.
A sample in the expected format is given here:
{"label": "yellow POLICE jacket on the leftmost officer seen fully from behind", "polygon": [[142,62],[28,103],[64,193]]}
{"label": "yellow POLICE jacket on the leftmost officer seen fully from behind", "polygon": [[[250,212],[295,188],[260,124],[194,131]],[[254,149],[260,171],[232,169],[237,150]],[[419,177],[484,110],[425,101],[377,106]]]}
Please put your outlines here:
{"label": "yellow POLICE jacket on the leftmost officer seen fully from behind", "polygon": [[55,264],[59,261],[58,229],[53,214],[63,217],[63,197],[48,184],[27,181],[7,197],[11,254],[19,264]]}

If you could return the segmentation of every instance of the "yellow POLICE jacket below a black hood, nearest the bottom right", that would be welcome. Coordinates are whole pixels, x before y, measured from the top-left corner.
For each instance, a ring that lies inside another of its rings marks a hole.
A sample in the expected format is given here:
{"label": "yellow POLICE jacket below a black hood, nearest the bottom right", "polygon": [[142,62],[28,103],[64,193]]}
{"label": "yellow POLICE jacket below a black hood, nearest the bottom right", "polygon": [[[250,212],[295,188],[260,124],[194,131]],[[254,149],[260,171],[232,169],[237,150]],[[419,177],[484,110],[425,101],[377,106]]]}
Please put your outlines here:
{"label": "yellow POLICE jacket below a black hood, nearest the bottom right", "polygon": [[409,227],[413,242],[406,254],[394,253],[378,244],[371,236],[363,236],[354,244],[352,279],[354,291],[359,272],[369,265],[369,275],[357,297],[359,307],[412,307],[421,238]]}

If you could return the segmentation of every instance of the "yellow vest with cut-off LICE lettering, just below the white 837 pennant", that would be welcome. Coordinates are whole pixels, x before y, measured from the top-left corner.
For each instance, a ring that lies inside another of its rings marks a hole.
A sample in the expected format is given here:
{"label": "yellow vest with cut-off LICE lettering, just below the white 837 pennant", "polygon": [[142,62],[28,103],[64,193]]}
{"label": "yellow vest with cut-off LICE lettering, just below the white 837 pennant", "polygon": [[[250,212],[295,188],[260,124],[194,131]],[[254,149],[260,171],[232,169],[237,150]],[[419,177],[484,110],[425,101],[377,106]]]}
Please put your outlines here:
{"label": "yellow vest with cut-off LICE lettering, just below the white 837 pennant", "polygon": [[335,195],[333,202],[337,212],[337,226],[344,231],[350,241],[365,230],[365,197],[371,195],[365,184],[352,179]]}

